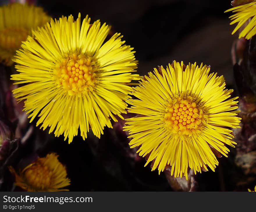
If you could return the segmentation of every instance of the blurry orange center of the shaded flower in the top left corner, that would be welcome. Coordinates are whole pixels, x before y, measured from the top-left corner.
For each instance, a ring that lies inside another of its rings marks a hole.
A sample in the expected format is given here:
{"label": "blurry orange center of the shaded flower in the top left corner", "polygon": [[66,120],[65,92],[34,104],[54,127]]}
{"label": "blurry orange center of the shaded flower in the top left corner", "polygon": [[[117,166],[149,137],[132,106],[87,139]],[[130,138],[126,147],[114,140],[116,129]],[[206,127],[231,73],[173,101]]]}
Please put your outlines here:
{"label": "blurry orange center of the shaded flower in the top left corner", "polygon": [[0,30],[0,48],[6,51],[16,51],[28,35],[29,30],[25,28],[4,28]]}

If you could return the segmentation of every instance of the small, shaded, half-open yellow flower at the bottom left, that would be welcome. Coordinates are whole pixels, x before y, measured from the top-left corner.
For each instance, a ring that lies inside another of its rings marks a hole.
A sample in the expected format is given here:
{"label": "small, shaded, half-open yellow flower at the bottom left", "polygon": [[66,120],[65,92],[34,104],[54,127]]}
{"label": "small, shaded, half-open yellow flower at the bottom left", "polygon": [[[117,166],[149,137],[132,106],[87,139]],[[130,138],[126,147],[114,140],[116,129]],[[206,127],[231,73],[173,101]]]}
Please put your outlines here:
{"label": "small, shaded, half-open yellow flower at the bottom left", "polygon": [[19,174],[13,167],[9,167],[9,169],[15,174],[15,185],[26,191],[69,191],[63,189],[70,185],[66,168],[58,161],[58,155],[55,153],[38,158]]}

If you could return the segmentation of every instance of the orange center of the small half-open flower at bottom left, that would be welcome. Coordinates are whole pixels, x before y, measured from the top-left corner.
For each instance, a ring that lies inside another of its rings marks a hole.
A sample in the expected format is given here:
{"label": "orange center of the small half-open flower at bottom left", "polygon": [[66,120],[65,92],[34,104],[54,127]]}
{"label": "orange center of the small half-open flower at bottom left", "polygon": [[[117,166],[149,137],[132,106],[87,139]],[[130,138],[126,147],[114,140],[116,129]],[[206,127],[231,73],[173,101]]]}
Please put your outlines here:
{"label": "orange center of the small half-open flower at bottom left", "polygon": [[25,170],[25,178],[29,185],[34,188],[49,188],[52,171],[40,162],[36,162]]}

